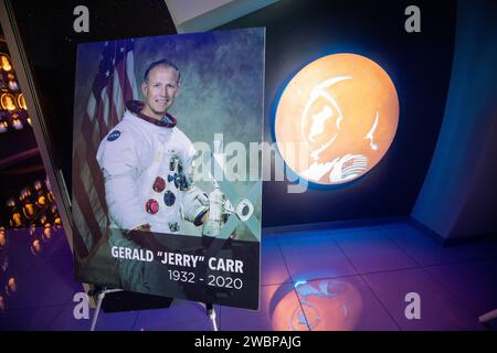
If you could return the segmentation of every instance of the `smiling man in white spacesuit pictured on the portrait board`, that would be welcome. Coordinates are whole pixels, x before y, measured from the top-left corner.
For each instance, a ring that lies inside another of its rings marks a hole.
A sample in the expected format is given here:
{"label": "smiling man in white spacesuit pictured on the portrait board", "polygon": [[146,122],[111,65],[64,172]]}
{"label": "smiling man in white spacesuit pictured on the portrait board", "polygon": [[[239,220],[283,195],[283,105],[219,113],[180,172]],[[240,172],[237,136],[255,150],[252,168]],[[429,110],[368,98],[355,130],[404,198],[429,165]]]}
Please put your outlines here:
{"label": "smiling man in white spacesuit pictured on the portrait board", "polygon": [[[173,63],[152,63],[141,84],[145,101],[127,103],[123,120],[99,145],[113,246],[157,250],[157,234],[180,232],[181,220],[200,226],[209,217],[209,199],[189,174],[193,145],[168,113],[179,87]],[[123,289],[149,290],[144,266],[119,260]]]}

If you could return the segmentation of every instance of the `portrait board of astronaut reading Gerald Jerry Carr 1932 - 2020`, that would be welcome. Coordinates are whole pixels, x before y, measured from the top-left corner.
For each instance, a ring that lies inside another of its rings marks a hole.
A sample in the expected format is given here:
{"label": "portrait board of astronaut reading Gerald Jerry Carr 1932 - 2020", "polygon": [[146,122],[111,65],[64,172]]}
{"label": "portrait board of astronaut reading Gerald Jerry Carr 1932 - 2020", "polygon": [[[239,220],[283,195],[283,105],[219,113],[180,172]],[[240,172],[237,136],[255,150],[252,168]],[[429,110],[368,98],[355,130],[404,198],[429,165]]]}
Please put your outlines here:
{"label": "portrait board of astronaut reading Gerald Jerry Carr 1932 - 2020", "polygon": [[[256,309],[264,29],[78,45],[80,281]],[[76,254],[76,252],[75,252]]]}

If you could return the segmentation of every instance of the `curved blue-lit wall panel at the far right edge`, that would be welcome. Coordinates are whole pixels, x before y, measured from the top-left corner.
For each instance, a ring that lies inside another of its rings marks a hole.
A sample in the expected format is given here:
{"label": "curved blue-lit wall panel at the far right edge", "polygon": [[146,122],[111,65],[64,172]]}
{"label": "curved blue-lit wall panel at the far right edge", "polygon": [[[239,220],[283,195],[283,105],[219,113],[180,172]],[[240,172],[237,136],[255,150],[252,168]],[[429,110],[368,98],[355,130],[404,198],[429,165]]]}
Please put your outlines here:
{"label": "curved blue-lit wall panel at the far right edge", "polygon": [[451,87],[412,215],[443,236],[497,231],[497,3],[459,1]]}

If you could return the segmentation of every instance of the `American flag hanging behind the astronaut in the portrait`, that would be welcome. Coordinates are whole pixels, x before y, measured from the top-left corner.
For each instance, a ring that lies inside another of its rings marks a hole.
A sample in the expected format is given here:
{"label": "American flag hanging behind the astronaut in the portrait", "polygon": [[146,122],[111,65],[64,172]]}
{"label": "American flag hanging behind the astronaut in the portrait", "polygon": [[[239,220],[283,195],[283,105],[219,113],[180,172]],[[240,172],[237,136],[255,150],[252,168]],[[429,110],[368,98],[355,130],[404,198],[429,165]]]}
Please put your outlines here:
{"label": "American flag hanging behind the astronaut in the portrait", "polygon": [[[134,39],[102,44],[86,111],[75,118],[78,126],[74,130],[72,213],[74,248],[80,258],[86,257],[101,239],[105,239],[107,206],[96,151],[101,140],[123,118],[126,101],[138,97],[134,45]],[[85,45],[78,49],[84,50]]]}

